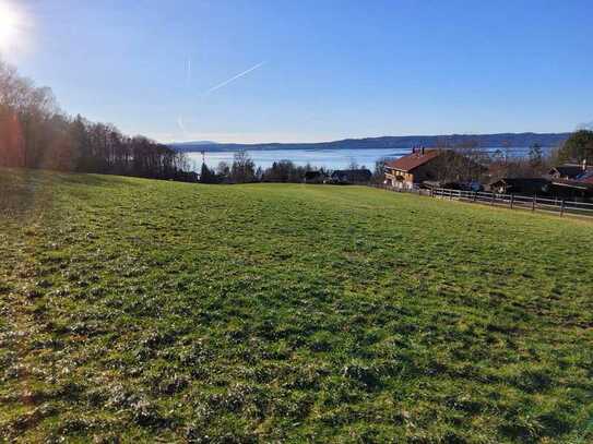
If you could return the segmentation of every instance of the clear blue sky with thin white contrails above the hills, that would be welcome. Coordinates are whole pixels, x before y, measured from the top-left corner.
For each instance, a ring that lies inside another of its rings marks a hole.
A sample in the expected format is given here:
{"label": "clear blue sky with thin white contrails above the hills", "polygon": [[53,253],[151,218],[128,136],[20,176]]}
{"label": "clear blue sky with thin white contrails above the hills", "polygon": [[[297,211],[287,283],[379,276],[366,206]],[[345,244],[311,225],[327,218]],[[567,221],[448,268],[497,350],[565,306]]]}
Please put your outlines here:
{"label": "clear blue sky with thin white contrails above the hills", "polygon": [[68,112],[163,142],[593,120],[591,0],[1,2],[27,24],[5,60]]}

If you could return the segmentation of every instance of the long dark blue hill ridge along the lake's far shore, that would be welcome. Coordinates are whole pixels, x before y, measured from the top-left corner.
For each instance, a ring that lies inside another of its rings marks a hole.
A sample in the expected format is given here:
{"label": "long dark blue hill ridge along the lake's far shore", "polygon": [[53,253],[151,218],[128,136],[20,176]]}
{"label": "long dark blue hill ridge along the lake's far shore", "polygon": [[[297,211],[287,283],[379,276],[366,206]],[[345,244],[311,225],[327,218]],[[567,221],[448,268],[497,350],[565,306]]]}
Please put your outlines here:
{"label": "long dark blue hill ridge along the lake's far shore", "polygon": [[226,152],[226,151],[266,151],[266,149],[369,149],[369,148],[398,148],[410,149],[414,146],[438,146],[447,143],[456,145],[476,142],[479,146],[496,147],[526,147],[535,143],[544,147],[558,146],[570,136],[570,133],[500,133],[500,134],[450,134],[450,135],[402,135],[366,139],[345,139],[334,142],[319,143],[263,143],[238,144],[214,142],[183,142],[173,143],[169,146],[185,153],[190,152]]}

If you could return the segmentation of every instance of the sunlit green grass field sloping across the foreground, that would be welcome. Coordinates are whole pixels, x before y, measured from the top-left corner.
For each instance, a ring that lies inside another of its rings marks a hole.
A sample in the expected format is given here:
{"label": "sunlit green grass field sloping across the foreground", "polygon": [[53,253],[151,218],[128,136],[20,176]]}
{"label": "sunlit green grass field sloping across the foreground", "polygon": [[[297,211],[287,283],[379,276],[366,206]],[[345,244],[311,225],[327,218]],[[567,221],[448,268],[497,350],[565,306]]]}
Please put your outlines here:
{"label": "sunlit green grass field sloping across the foreground", "polygon": [[0,441],[593,441],[593,224],[0,170]]}

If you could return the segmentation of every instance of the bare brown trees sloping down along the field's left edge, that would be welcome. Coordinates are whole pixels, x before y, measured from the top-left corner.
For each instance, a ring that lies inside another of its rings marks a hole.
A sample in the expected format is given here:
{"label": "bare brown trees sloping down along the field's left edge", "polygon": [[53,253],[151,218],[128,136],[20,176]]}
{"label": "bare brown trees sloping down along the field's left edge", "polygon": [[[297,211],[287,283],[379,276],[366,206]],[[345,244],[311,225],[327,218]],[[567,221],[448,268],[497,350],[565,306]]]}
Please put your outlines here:
{"label": "bare brown trees sloping down along the field's left edge", "polygon": [[70,117],[48,87],[0,61],[0,166],[195,181],[185,154]]}

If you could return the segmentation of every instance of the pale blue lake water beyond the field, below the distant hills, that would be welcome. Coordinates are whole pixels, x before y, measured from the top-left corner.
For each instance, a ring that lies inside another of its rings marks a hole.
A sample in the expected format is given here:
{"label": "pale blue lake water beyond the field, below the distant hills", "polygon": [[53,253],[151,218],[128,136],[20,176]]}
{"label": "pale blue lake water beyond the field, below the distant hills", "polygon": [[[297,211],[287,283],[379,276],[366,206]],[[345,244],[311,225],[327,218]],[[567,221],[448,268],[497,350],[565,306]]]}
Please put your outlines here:
{"label": "pale blue lake water beyond the field, below the distant hills", "polygon": [[[483,148],[488,153],[494,153],[497,148]],[[549,148],[543,148],[546,153]],[[511,156],[522,157],[529,152],[526,147],[509,148]],[[345,169],[355,163],[359,167],[375,169],[375,163],[381,158],[399,158],[410,153],[408,148],[377,148],[377,149],[253,149],[247,152],[256,163],[256,166],[269,168],[274,161],[292,160],[295,165],[305,166],[307,164],[313,167],[323,167],[327,169]],[[202,167],[201,153],[187,153],[190,166],[199,171]],[[206,152],[204,153],[205,164],[210,168],[215,168],[218,163],[226,161],[233,164],[235,152]]]}

